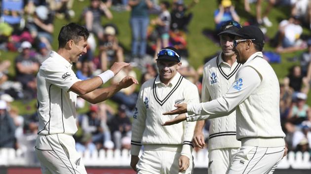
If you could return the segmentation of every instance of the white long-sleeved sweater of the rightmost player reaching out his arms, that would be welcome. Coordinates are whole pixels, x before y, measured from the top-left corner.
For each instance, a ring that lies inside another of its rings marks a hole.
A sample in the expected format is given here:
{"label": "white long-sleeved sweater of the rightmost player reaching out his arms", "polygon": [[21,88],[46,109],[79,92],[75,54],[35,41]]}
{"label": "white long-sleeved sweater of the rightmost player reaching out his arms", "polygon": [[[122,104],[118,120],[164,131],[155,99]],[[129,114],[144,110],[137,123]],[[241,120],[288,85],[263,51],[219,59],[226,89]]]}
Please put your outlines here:
{"label": "white long-sleeved sweater of the rightmost player reaching out his arms", "polygon": [[187,121],[228,115],[236,107],[236,139],[243,145],[285,145],[280,125],[279,84],[261,52],[253,54],[238,70],[233,85],[220,98],[189,104]]}

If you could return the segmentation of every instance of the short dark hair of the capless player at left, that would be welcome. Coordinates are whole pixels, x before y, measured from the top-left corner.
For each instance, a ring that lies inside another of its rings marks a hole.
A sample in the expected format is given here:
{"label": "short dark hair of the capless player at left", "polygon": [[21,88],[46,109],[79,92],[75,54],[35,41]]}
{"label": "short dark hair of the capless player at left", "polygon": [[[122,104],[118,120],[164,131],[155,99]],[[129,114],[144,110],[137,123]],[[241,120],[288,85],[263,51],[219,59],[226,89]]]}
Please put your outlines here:
{"label": "short dark hair of the capless player at left", "polygon": [[63,26],[58,34],[58,48],[64,48],[69,40],[73,40],[75,43],[83,39],[87,39],[89,36],[88,30],[76,23],[70,23]]}

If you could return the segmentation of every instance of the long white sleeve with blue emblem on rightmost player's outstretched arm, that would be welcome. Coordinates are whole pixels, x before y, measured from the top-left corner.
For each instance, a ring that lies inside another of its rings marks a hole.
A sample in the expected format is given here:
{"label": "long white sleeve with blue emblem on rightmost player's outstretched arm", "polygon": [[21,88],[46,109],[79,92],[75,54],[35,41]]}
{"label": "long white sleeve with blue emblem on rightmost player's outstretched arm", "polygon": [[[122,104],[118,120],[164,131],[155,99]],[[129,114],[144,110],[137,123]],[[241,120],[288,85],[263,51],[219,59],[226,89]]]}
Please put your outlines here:
{"label": "long white sleeve with blue emblem on rightmost player's outstretched arm", "polygon": [[227,93],[210,102],[190,104],[187,107],[187,121],[227,116],[242,103],[261,83],[260,74],[252,67],[242,67]]}

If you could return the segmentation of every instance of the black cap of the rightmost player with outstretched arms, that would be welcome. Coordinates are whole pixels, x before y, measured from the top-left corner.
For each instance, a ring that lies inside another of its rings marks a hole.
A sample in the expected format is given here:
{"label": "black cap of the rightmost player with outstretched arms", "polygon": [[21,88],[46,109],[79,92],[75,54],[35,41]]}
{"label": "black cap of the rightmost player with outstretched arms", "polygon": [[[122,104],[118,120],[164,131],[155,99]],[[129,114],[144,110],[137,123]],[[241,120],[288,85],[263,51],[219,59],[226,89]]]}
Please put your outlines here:
{"label": "black cap of the rightmost player with outstretched arms", "polygon": [[234,35],[238,35],[243,39],[255,39],[252,40],[253,43],[260,47],[265,45],[265,35],[261,29],[256,26],[245,26],[240,28]]}

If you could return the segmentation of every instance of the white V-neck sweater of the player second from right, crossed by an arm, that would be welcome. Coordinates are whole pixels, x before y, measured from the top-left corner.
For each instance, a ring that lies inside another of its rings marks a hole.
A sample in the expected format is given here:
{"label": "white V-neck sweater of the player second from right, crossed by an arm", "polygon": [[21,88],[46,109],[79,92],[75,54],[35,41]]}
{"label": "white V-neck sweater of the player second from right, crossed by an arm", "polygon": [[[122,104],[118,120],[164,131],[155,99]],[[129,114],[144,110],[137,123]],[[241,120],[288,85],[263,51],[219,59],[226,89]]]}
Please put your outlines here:
{"label": "white V-neck sweater of the player second from right, crossed by an arm", "polygon": [[[219,56],[205,63],[201,102],[222,97],[235,80],[235,74],[242,64],[235,61],[232,66]],[[208,149],[238,148],[241,142],[236,140],[235,111],[228,116],[210,119]]]}

